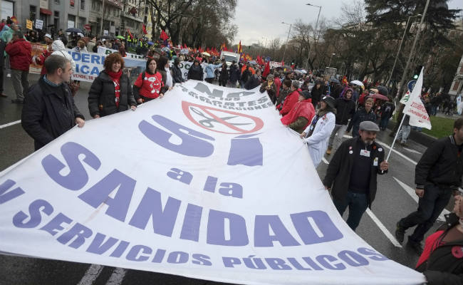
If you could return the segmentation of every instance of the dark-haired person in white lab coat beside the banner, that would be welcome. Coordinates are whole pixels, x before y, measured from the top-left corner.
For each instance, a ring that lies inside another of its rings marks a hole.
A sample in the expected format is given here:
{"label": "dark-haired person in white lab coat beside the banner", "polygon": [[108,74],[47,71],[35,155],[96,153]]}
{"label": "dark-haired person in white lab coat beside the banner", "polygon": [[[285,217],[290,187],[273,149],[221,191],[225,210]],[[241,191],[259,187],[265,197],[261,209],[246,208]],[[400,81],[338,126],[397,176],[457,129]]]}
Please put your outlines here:
{"label": "dark-haired person in white lab coat beside the banner", "polygon": [[328,140],[335,126],[335,99],[325,96],[321,99],[321,107],[313,117],[311,124],[301,133],[301,139],[307,143],[313,165],[318,167],[328,148]]}

